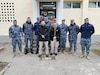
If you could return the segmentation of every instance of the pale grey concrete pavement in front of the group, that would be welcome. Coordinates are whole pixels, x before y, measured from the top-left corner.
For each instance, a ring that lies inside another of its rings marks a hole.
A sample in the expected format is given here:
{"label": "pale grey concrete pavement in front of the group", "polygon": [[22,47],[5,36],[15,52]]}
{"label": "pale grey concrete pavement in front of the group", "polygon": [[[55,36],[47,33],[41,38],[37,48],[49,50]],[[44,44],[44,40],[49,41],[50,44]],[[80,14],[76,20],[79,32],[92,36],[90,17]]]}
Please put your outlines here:
{"label": "pale grey concrete pavement in front of the group", "polygon": [[[4,46],[5,50],[0,53],[0,61],[9,62],[11,65],[3,75],[100,75],[100,56],[91,52],[91,60],[80,58],[79,44],[76,56],[60,53],[56,60],[39,60],[37,55],[30,53],[13,58],[11,44]],[[99,46],[93,44],[92,49],[100,48]]]}

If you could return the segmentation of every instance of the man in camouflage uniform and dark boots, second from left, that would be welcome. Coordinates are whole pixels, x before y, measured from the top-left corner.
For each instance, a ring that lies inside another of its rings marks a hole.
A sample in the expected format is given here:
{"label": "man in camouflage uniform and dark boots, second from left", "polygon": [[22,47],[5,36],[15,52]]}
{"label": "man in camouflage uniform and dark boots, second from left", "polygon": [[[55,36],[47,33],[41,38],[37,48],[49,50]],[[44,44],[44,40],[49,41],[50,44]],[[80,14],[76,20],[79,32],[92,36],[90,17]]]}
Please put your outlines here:
{"label": "man in camouflage uniform and dark boots, second from left", "polygon": [[23,24],[23,32],[25,37],[25,54],[28,53],[28,41],[30,41],[30,52],[33,54],[33,24],[31,18],[28,17],[26,23]]}

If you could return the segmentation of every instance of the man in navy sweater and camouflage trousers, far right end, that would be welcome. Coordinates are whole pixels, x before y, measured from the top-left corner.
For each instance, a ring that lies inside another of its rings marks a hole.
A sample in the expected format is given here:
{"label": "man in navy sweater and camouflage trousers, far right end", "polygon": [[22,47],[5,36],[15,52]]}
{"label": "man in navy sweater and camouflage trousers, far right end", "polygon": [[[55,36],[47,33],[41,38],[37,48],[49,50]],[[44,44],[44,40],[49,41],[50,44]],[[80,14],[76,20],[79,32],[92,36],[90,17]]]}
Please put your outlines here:
{"label": "man in navy sweater and camouflage trousers, far right end", "polygon": [[81,32],[81,47],[82,47],[82,56],[84,57],[85,54],[85,48],[86,48],[86,58],[89,58],[89,53],[90,53],[90,46],[91,46],[91,36],[94,34],[95,29],[92,24],[89,23],[89,19],[85,18],[84,19],[84,24],[81,25],[80,27],[80,32]]}

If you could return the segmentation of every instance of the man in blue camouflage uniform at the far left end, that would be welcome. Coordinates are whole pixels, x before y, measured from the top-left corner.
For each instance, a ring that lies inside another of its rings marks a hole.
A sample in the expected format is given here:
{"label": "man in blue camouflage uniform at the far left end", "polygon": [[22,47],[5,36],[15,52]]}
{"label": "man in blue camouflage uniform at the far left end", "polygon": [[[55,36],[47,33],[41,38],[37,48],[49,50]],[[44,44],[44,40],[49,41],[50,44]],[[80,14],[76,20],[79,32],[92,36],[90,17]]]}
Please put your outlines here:
{"label": "man in blue camouflage uniform at the far left end", "polygon": [[9,28],[9,38],[12,40],[13,53],[16,56],[16,45],[18,44],[20,54],[22,53],[22,41],[23,36],[22,28],[17,25],[17,20],[13,20],[13,26]]}

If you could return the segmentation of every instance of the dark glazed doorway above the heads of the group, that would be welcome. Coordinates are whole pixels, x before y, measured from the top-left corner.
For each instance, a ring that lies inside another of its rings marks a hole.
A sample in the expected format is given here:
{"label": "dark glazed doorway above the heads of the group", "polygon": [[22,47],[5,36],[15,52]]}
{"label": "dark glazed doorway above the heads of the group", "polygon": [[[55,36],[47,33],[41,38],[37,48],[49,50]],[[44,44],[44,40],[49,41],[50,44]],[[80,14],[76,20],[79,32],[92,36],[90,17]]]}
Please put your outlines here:
{"label": "dark glazed doorway above the heads of the group", "polygon": [[48,17],[56,18],[56,2],[40,2],[40,15],[46,14]]}

